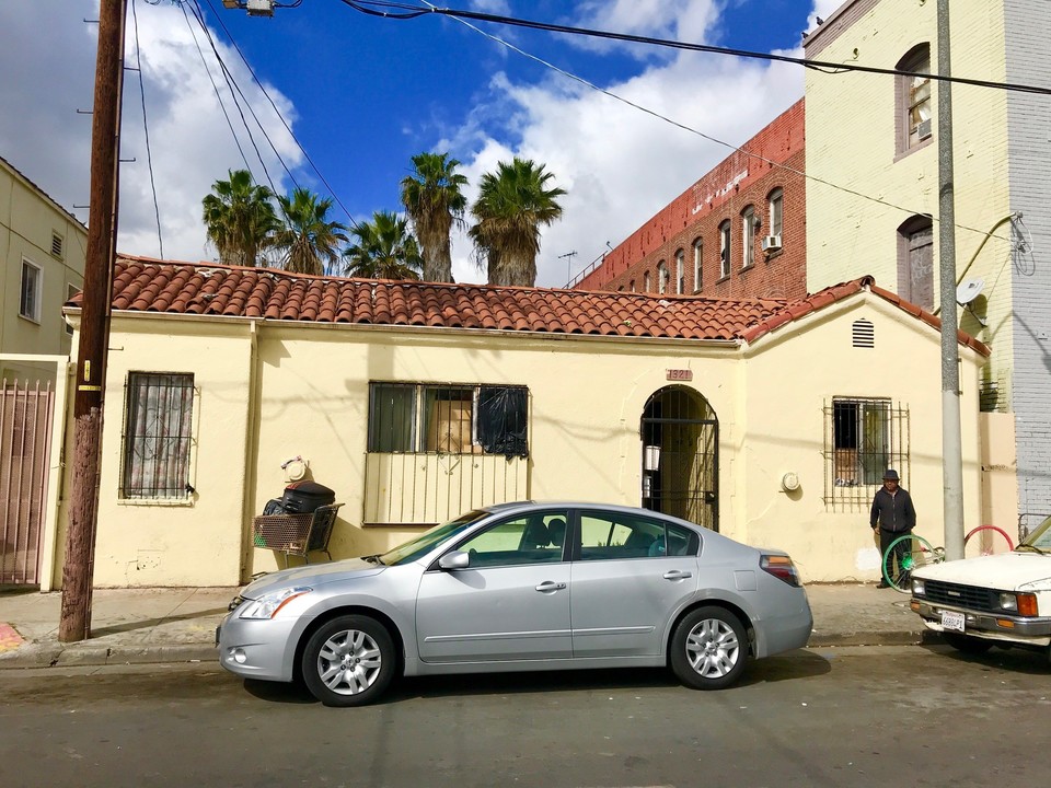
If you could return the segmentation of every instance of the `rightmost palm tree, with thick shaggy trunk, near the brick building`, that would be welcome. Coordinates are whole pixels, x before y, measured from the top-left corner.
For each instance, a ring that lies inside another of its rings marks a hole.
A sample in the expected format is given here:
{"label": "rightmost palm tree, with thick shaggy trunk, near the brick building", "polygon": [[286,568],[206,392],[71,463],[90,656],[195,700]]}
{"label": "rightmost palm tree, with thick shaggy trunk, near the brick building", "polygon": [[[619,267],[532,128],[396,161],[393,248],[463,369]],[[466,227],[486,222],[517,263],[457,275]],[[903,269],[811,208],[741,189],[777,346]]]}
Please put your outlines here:
{"label": "rightmost palm tree, with thick shaggy trunk, near the brick building", "polygon": [[488,264],[490,285],[536,283],[540,228],[562,216],[557,198],[565,189],[547,188],[554,177],[543,164],[515,157],[499,162],[496,173],[486,173],[478,185],[478,199],[471,208],[475,225],[470,234],[478,258]]}

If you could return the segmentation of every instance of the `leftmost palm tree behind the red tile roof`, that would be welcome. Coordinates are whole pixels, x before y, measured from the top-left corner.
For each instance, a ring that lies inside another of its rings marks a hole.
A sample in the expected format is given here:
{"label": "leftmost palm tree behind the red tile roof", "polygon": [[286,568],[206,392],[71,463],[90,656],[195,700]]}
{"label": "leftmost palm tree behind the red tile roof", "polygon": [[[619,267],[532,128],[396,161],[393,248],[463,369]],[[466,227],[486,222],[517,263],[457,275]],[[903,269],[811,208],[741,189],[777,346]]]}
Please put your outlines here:
{"label": "leftmost palm tree behind the red tile roof", "polygon": [[278,228],[274,193],[252,182],[247,170],[229,170],[229,181],[216,181],[200,202],[208,240],[227,265],[254,266]]}

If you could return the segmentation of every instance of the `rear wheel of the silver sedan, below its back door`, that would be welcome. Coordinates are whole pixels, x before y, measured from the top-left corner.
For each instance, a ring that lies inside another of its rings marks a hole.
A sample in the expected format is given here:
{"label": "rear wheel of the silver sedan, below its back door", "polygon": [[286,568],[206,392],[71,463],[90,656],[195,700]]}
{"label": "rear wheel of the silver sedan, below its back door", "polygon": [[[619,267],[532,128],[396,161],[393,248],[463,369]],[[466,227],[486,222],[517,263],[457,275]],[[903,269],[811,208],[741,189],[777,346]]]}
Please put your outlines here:
{"label": "rear wheel of the silver sedan, below its back door", "polygon": [[744,626],[721,607],[698,607],[686,614],[671,638],[671,670],[694,690],[721,690],[744,672],[748,639]]}

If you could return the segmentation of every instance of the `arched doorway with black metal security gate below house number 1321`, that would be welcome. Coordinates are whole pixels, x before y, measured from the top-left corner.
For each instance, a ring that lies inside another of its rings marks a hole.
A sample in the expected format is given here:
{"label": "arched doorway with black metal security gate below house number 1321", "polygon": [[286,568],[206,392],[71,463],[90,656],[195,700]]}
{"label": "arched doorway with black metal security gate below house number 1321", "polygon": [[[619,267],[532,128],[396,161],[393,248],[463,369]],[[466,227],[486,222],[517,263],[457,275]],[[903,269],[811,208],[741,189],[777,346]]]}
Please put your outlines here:
{"label": "arched doorway with black metal security gate below house number 1321", "polygon": [[691,389],[667,386],[643,410],[643,507],[719,530],[719,422]]}

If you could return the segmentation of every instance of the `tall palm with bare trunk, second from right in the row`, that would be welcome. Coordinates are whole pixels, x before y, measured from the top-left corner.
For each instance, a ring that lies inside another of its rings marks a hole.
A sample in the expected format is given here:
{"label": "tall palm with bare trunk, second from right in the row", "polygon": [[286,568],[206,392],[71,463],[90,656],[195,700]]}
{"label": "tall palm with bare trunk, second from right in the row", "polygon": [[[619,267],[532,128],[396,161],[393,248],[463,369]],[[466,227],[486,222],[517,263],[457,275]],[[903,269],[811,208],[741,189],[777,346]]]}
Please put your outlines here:
{"label": "tall palm with bare trunk, second from right in the row", "polygon": [[449,231],[453,222],[463,225],[467,207],[467,178],[458,166],[448,153],[420,153],[413,157],[413,174],[402,179],[402,205],[423,247],[426,281],[453,281]]}

